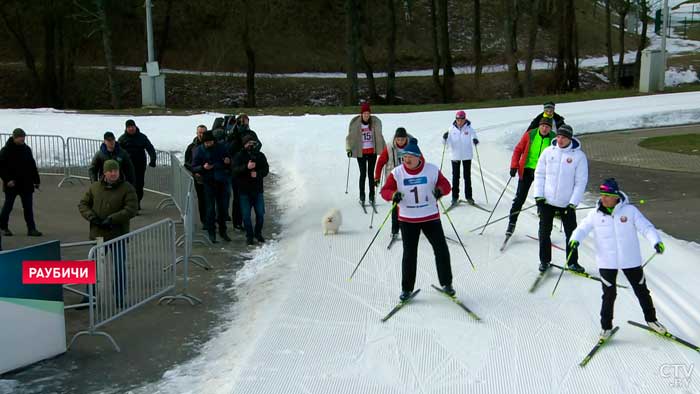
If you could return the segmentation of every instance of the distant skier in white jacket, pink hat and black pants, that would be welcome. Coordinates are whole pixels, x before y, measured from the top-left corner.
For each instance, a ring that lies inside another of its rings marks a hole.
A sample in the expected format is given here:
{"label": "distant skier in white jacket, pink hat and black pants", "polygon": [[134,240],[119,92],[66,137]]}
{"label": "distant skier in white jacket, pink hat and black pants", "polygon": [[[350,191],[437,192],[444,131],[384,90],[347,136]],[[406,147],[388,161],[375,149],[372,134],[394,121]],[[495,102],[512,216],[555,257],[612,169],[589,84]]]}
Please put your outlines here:
{"label": "distant skier in white jacket, pink hat and black pants", "polygon": [[471,126],[464,111],[457,111],[450,130],[442,135],[443,143],[450,148],[452,161],[452,204],[459,202],[460,167],[464,170],[464,197],[474,205],[472,198],[472,157],[474,146],[479,143],[476,130]]}

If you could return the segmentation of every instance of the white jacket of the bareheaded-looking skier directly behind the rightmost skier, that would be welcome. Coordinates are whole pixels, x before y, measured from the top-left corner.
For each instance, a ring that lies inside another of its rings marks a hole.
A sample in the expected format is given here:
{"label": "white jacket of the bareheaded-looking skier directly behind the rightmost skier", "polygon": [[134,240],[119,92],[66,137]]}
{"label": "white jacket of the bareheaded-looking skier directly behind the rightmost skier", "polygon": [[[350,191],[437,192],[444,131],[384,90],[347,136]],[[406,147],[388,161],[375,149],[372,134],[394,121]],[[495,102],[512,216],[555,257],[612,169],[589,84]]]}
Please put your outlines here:
{"label": "white jacket of the bareheaded-looking skier directly behind the rightmost skier", "polygon": [[557,139],[540,155],[535,168],[535,197],[544,197],[547,204],[565,208],[577,206],[588,183],[588,160],[576,138],[566,148]]}

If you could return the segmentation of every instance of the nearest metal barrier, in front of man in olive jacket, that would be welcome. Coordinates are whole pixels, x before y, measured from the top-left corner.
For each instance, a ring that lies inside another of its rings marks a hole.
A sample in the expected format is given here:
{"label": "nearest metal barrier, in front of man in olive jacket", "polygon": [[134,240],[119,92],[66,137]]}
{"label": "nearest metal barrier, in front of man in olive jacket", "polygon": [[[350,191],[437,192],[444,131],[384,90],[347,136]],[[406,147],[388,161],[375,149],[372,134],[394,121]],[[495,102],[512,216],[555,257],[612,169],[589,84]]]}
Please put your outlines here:
{"label": "nearest metal barrier, in front of man in olive jacket", "polygon": [[171,219],[142,227],[90,249],[95,260],[97,283],[88,286],[89,326],[82,335],[107,338],[120,351],[114,338],[101,326],[175,289],[175,223]]}

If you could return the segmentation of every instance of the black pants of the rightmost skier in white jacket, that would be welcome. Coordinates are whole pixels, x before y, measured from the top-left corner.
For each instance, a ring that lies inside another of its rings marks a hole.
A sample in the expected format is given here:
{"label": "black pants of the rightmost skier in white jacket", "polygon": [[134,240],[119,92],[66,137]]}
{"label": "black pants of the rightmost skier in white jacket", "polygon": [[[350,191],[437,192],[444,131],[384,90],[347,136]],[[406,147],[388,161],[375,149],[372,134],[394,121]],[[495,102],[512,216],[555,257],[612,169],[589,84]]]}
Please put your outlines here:
{"label": "black pants of the rightmost skier in white jacket", "polygon": [[[599,271],[603,287],[603,305],[600,308],[600,326],[604,330],[610,330],[612,329],[615,297],[617,297],[617,287],[615,286],[617,270],[601,268]],[[637,300],[639,300],[639,305],[642,307],[642,311],[644,311],[644,320],[656,321],[656,310],[654,309],[654,303],[651,300],[651,295],[647,288],[642,267],[626,268],[623,269],[622,272],[624,272],[627,280],[632,285],[634,295],[636,295]]]}

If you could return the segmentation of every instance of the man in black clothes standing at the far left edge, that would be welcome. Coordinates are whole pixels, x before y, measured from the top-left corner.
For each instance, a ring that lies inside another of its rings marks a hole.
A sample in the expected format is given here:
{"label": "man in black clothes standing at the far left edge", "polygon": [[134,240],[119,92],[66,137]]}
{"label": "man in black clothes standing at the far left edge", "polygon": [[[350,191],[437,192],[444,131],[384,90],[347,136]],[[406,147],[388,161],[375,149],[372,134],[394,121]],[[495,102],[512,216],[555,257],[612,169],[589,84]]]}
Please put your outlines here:
{"label": "man in black clothes standing at the far left edge", "polygon": [[32,150],[24,143],[26,136],[24,130],[15,129],[12,132],[12,138],[8,139],[5,147],[0,149],[0,178],[2,178],[5,191],[5,204],[0,212],[0,231],[8,237],[12,236],[8,222],[17,196],[22,200],[27,235],[32,237],[42,235],[36,229],[32,206],[34,189],[39,189],[41,181]]}

